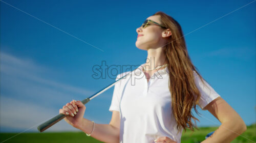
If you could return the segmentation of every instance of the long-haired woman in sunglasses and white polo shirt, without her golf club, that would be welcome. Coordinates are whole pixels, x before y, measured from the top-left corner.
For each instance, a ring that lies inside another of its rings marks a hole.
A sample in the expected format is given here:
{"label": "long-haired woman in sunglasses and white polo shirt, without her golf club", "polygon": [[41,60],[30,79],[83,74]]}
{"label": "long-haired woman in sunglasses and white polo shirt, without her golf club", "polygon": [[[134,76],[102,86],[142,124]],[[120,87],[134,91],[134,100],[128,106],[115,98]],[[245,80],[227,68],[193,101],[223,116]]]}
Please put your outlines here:
{"label": "long-haired woman in sunglasses and white polo shirt, without her golf club", "polygon": [[136,32],[136,46],[147,50],[148,61],[115,85],[111,122],[96,124],[84,119],[86,106],[74,100],[59,110],[70,115],[66,122],[103,142],[180,142],[183,129],[197,128],[192,119],[198,119],[191,109],[197,112],[199,105],[222,123],[203,142],[230,142],[246,130],[238,113],[191,63],[174,18],[157,12]]}

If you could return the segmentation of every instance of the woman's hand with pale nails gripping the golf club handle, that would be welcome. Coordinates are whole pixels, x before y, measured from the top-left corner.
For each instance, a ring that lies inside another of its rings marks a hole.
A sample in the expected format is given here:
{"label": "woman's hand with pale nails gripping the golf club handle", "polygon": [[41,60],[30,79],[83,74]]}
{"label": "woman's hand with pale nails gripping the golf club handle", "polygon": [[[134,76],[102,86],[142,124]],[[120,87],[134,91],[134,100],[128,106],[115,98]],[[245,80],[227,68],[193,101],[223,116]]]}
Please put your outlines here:
{"label": "woman's hand with pale nails gripping the golf club handle", "polygon": [[78,128],[79,123],[81,123],[85,111],[86,106],[81,101],[76,100],[72,100],[63,106],[62,109],[59,109],[59,113],[68,115],[64,120],[75,128]]}

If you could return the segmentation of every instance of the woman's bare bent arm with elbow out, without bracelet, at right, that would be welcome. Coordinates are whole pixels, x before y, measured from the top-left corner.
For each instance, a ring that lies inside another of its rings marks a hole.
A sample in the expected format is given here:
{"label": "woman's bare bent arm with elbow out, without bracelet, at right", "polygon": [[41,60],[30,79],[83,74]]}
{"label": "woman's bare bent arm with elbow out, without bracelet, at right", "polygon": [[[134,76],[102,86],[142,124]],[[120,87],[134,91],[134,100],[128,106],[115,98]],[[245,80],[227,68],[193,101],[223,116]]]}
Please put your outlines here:
{"label": "woman's bare bent arm with elbow out, without bracelet, at right", "polygon": [[221,97],[210,102],[207,109],[220,122],[221,126],[210,137],[202,141],[207,142],[231,142],[246,131],[246,125],[238,113]]}

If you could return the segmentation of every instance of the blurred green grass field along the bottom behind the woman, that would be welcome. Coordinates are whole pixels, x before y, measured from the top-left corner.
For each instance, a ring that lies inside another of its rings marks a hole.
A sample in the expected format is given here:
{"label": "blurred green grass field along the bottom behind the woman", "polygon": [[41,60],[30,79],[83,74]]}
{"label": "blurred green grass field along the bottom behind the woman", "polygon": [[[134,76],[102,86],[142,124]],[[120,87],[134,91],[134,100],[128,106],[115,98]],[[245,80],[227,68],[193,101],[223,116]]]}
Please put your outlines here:
{"label": "blurred green grass field along the bottom behind the woman", "polygon": [[[218,127],[201,127],[198,131],[195,131],[192,135],[190,130],[187,130],[186,133],[183,132],[181,137],[182,143],[194,143],[204,140],[206,134],[215,131]],[[16,135],[17,133],[0,133],[0,142]],[[242,137],[244,136],[244,137]],[[256,142],[256,128],[255,124],[247,126],[246,132],[242,136],[237,137],[232,143],[240,142]],[[250,141],[246,138],[253,140]],[[70,143],[70,142],[90,142],[96,143],[101,142],[93,137],[86,136],[83,132],[59,132],[59,133],[22,133],[13,138],[4,141],[5,143],[15,142],[15,143],[40,143],[40,142],[49,142],[49,143]]]}

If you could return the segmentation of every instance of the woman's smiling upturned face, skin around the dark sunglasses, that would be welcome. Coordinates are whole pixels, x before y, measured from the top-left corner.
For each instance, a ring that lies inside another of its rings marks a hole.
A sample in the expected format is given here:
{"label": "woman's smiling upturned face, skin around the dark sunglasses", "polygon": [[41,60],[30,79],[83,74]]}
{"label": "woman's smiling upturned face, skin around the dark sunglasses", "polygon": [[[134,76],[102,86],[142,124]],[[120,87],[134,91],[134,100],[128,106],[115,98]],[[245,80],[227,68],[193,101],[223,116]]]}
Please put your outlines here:
{"label": "woman's smiling upturned face, skin around the dark sunglasses", "polygon": [[[153,20],[159,24],[160,22],[160,15],[150,16],[147,19]],[[138,33],[136,47],[142,50],[148,50],[150,48],[158,48],[163,46],[166,43],[166,39],[162,37],[164,29],[155,24],[147,25],[145,28],[142,26],[136,29]],[[140,36],[141,35],[141,36]]]}

